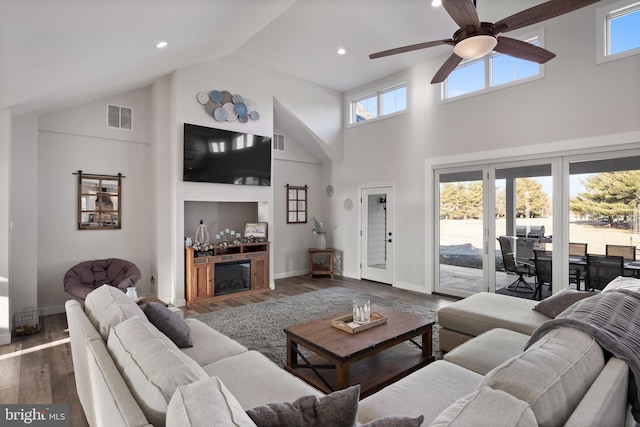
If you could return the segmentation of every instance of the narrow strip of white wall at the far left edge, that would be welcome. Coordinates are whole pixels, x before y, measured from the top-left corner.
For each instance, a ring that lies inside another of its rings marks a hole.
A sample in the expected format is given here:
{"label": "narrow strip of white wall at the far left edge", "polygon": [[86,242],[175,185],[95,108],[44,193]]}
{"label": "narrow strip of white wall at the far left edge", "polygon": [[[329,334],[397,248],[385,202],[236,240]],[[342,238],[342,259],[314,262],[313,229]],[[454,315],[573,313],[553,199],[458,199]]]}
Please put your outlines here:
{"label": "narrow strip of white wall at the far left edge", "polygon": [[9,200],[11,111],[0,110],[0,345],[11,342],[9,316]]}

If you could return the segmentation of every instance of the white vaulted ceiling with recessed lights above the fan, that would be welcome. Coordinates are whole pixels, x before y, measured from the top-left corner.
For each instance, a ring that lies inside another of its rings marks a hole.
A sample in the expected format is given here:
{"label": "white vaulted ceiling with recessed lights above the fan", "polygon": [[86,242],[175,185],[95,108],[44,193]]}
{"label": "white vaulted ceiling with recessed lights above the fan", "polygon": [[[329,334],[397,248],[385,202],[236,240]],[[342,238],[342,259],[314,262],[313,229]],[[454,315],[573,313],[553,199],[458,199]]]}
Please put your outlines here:
{"label": "white vaulted ceiling with recessed lights above the fan", "polygon": [[[539,3],[479,0],[478,12],[497,21]],[[0,108],[64,108],[226,55],[348,91],[451,48],[370,53],[455,29],[430,0],[0,0]]]}

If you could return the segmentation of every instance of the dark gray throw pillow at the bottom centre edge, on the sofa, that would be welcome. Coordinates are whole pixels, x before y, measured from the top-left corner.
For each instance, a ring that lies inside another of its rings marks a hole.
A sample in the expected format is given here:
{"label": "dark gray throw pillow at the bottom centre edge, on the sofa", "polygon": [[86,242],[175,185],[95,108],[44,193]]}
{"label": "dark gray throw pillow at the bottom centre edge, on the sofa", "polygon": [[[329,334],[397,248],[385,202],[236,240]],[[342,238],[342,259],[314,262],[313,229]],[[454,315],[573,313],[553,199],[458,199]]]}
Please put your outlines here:
{"label": "dark gray throw pillow at the bottom centre edge, on the sofa", "polygon": [[258,427],[353,427],[360,385],[323,397],[303,396],[292,403],[270,403],[247,411]]}

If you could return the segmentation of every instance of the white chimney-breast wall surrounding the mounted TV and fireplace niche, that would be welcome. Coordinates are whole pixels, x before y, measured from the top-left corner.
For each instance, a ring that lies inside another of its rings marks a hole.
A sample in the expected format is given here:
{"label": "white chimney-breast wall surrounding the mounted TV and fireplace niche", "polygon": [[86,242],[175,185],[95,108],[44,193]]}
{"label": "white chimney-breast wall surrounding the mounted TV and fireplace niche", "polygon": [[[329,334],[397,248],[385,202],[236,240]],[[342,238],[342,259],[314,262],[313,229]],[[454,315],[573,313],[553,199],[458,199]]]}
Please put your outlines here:
{"label": "white chimney-breast wall surrounding the mounted TV and fireplace niche", "polygon": [[[183,124],[193,123],[201,126],[217,127],[257,135],[273,134],[274,108],[273,99],[277,97],[298,116],[304,118],[314,135],[318,136],[321,143],[326,144],[328,151],[340,151],[342,146],[342,96],[340,93],[323,89],[310,83],[306,83],[283,74],[275,73],[267,69],[256,67],[255,64],[247,64],[233,58],[223,58],[196,64],[179,69],[174,76],[176,118],[174,128],[171,131],[171,156],[168,167],[174,168],[173,176],[176,182],[174,199],[180,207],[186,201],[226,201],[226,202],[257,202],[259,220],[268,222],[269,230],[274,230],[276,218],[283,217],[284,204],[276,208],[275,194],[279,190],[279,184],[273,182],[271,187],[237,186],[224,184],[207,184],[182,182],[178,171],[182,168],[182,132]],[[211,90],[228,90],[234,94],[240,94],[251,99],[256,104],[260,113],[260,119],[248,123],[217,122],[209,116],[204,107],[196,100],[198,92],[210,92]],[[273,162],[274,167],[280,163]],[[274,175],[273,179],[277,178]],[[317,180],[317,178],[313,178]],[[321,186],[326,187],[326,184]],[[324,191],[324,190],[322,190]],[[159,206],[161,209],[162,206]],[[278,209],[278,214],[276,214]],[[182,252],[184,209],[176,211],[177,229],[171,245],[176,253]],[[309,233],[310,230],[309,230]],[[281,240],[276,233],[270,232],[272,241],[272,256],[270,271],[275,272],[274,260],[286,254],[281,253]],[[285,240],[287,242],[287,240]],[[298,248],[297,252],[305,251],[308,244]],[[282,247],[283,251],[287,251]],[[169,262],[169,259],[161,258],[158,263]],[[297,267],[296,267],[297,268]],[[271,286],[274,275],[271,275]],[[178,263],[174,275],[173,286],[176,303],[184,301],[184,263]]]}

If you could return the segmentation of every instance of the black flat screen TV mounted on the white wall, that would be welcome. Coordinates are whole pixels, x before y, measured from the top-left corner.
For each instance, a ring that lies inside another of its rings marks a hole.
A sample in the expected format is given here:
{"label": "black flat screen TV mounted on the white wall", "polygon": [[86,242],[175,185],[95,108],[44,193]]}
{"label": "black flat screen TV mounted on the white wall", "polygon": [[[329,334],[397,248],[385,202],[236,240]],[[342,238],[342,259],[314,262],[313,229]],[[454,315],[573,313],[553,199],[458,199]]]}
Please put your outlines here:
{"label": "black flat screen TV mounted on the white wall", "polygon": [[271,137],[184,124],[183,181],[271,185]]}

